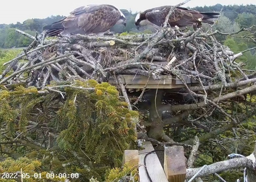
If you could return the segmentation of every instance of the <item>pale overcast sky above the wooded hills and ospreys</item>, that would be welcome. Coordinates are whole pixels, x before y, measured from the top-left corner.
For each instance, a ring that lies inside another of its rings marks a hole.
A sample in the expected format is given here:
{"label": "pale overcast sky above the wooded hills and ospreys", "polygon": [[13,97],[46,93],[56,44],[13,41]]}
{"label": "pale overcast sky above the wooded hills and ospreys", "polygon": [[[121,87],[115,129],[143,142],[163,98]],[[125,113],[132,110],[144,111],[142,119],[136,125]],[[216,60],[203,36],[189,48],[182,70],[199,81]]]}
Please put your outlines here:
{"label": "pale overcast sky above the wooded hills and ospreys", "polygon": [[[30,18],[46,18],[51,15],[69,15],[69,12],[80,6],[87,4],[112,4],[119,9],[131,9],[133,12],[141,9],[154,8],[163,5],[176,5],[183,0],[4,0],[1,3],[0,24],[16,24]],[[66,3],[64,3],[66,2]],[[127,3],[126,3],[127,2]],[[172,4],[170,4],[170,2]],[[191,0],[183,7],[212,6],[222,5],[240,5],[254,4],[255,0]]]}

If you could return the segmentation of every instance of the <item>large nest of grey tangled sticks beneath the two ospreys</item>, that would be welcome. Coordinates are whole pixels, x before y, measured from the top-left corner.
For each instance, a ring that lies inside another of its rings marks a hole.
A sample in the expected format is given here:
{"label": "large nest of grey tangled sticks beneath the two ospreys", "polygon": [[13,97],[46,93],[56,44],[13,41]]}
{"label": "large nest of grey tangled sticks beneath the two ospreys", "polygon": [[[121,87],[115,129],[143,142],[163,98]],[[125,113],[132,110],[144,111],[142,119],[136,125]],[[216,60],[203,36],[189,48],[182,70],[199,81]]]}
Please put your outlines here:
{"label": "large nest of grey tangled sticks beneath the two ospreys", "polygon": [[[246,30],[250,29],[239,32]],[[242,53],[234,55],[218,43],[215,34],[228,34],[212,31],[211,27],[208,32],[203,28],[181,32],[178,27],[163,27],[153,35],[78,34],[58,39],[45,39],[44,33],[33,37],[17,31],[34,41],[24,53],[5,63],[8,66],[0,75],[0,84],[24,82],[44,88],[51,80],[94,78],[101,82],[116,74],[137,74],[154,79],[174,75],[183,84],[182,75],[186,75],[202,85],[216,82],[226,85],[231,71],[238,71],[248,79],[241,65],[235,62]],[[238,32],[232,34],[235,33]],[[9,73],[11,69],[13,73]]]}

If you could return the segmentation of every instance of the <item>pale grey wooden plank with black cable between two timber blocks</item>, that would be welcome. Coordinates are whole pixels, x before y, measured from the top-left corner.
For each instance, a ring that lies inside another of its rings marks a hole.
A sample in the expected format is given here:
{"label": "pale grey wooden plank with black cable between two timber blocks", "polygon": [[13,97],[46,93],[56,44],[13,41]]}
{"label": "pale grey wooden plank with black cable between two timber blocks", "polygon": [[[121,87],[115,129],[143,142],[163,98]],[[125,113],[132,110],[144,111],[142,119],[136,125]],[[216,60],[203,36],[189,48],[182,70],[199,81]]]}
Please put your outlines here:
{"label": "pale grey wooden plank with black cable between two timber blocks", "polygon": [[[144,166],[144,157],[148,152],[153,151],[154,148],[150,141],[146,141],[143,144],[145,149],[139,151],[139,182],[149,182]],[[153,182],[168,182],[156,153],[149,154],[146,157],[146,167]]]}

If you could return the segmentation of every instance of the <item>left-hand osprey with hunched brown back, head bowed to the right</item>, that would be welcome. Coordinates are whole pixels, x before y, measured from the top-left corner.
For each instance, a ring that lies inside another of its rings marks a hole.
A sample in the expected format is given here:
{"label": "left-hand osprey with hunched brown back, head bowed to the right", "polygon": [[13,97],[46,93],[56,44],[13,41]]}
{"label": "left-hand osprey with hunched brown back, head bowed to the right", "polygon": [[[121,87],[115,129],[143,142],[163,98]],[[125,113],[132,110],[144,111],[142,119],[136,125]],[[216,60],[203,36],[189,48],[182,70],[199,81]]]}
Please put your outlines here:
{"label": "left-hand osprey with hunched brown back, head bowed to the right", "polygon": [[96,34],[103,35],[112,26],[123,24],[126,26],[124,14],[115,6],[108,4],[87,5],[76,8],[70,15],[46,25],[46,35],[70,36],[71,34]]}

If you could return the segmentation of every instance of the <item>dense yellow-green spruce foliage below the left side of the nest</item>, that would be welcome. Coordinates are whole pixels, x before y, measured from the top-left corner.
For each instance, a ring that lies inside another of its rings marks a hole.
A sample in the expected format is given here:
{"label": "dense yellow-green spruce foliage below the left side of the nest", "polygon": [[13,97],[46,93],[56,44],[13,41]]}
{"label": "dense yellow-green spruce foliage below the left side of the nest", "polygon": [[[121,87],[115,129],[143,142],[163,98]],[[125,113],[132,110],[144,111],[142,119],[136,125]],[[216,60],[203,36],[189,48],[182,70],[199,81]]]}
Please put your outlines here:
{"label": "dense yellow-green spruce foliage below the left side of the nest", "polygon": [[[5,147],[22,151],[24,160],[40,161],[35,167],[41,172],[79,173],[72,181],[104,181],[111,168],[120,167],[124,150],[136,149],[133,121],[138,117],[109,83],[51,82],[44,91],[22,84],[0,87],[0,126],[6,132],[2,140],[20,134],[16,140],[23,144]],[[48,140],[49,132],[53,140]],[[25,165],[24,170],[32,169]]]}

